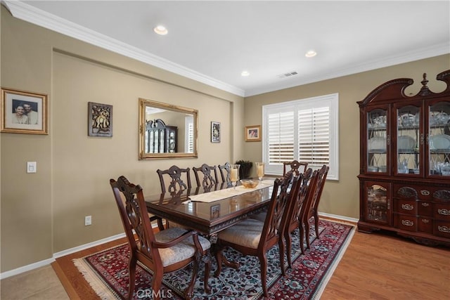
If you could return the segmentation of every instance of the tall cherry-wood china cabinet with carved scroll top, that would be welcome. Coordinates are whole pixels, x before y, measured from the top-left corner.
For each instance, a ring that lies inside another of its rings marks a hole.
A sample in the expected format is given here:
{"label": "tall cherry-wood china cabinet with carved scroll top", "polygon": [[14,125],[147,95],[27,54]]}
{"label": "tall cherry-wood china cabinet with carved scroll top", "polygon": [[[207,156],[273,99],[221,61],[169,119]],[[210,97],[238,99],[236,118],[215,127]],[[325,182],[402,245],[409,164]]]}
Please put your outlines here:
{"label": "tall cherry-wood china cabinet with carved scroll top", "polygon": [[450,246],[450,70],[444,91],[415,96],[413,79],[381,84],[358,102],[360,217],[358,229],[390,230],[416,242]]}

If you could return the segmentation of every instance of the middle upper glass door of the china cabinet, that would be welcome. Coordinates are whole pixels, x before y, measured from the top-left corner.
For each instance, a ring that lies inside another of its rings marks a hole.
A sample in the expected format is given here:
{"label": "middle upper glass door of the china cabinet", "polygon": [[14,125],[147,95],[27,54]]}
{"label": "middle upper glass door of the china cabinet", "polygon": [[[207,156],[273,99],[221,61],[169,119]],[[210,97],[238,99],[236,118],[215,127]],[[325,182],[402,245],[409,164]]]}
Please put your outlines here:
{"label": "middle upper glass door of the china cabinet", "polygon": [[423,130],[420,129],[422,111],[420,104],[396,107],[397,113],[397,167],[396,174],[423,174]]}

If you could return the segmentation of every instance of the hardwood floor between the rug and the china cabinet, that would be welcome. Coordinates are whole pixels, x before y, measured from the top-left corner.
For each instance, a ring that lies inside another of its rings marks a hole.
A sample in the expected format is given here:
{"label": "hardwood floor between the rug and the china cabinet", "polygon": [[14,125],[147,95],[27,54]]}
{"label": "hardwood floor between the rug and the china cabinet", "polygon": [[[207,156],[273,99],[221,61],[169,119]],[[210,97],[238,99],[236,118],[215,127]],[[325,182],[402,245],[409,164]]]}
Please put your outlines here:
{"label": "hardwood floor between the rug and the china cabinet", "polygon": [[321,299],[450,299],[450,249],[354,234]]}

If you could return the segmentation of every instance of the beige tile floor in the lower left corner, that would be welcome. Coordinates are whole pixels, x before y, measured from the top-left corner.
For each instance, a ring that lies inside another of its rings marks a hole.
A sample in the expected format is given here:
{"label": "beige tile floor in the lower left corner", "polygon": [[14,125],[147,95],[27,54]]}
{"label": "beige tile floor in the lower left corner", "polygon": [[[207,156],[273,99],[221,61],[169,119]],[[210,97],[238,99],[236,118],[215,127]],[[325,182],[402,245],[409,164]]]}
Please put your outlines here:
{"label": "beige tile floor in the lower left corner", "polygon": [[1,280],[0,299],[65,300],[69,296],[48,265]]}

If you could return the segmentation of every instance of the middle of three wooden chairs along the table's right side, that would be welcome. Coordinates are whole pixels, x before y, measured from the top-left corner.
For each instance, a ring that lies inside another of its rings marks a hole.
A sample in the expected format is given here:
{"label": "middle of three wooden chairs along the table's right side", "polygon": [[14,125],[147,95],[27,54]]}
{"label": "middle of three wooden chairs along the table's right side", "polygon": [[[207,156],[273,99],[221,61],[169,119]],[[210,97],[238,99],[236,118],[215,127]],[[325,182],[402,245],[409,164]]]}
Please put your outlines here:
{"label": "middle of three wooden chairs along the table's right side", "polygon": [[291,206],[288,209],[288,216],[286,218],[285,222],[285,229],[283,230],[284,240],[286,243],[286,254],[288,257],[288,265],[289,267],[292,267],[292,238],[291,233],[295,229],[299,229],[300,233],[300,250],[302,251],[302,254],[304,254],[304,244],[303,244],[303,226],[302,226],[302,206],[305,202],[307,202],[307,199],[309,195],[312,193],[308,193],[311,189],[309,188],[311,183],[314,185],[316,182],[316,175],[318,171],[312,171],[311,168],[307,169],[303,174],[300,174],[299,181],[300,181],[300,187],[297,189],[297,195],[294,197],[294,201],[291,202]]}

